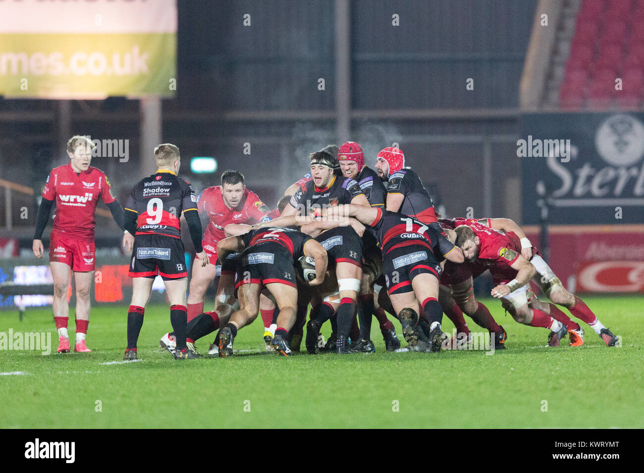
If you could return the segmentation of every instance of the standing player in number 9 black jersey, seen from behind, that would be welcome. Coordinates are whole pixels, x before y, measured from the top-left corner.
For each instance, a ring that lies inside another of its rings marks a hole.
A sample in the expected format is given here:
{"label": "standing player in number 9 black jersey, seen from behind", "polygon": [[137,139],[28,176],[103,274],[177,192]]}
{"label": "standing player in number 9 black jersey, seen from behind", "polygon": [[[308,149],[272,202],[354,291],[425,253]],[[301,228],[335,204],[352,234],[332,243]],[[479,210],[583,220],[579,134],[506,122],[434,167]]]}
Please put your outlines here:
{"label": "standing player in number 9 black jersey, seen from behind", "polygon": [[[193,187],[177,177],[181,165],[178,147],[173,144],[158,145],[155,148],[155,160],[157,171],[135,185],[125,209],[125,227],[129,233],[124,236],[124,245],[133,244],[128,273],[133,278],[133,293],[128,310],[128,348],[123,359],[137,359],[138,334],[157,275],[164,280],[171,304],[170,322],[176,339],[175,359],[197,358],[198,355],[189,351],[186,345],[187,272],[179,220],[183,214],[196,258],[201,266],[207,266],[208,256],[202,248],[197,199],[194,197]],[[194,266],[197,266],[197,260]]]}

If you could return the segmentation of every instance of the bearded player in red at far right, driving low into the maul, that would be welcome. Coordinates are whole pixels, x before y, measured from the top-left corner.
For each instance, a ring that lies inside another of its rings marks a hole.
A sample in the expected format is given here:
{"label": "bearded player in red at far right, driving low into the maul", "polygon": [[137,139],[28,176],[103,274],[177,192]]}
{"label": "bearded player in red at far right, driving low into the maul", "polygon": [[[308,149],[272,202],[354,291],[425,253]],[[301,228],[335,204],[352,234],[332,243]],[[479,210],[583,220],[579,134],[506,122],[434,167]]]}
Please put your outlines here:
{"label": "bearded player in red at far right, driving low into the maul", "polygon": [[[479,223],[459,225],[455,231],[457,245],[466,258],[489,266],[497,284],[492,295],[502,299],[504,308],[513,318],[522,324],[551,330],[546,346],[559,346],[567,333],[571,334],[571,345],[580,346],[583,344],[583,329],[572,320],[566,320],[569,317],[565,314],[563,322],[557,320],[553,317],[555,306],[533,298],[529,287],[531,279],[554,304],[567,307],[575,317],[589,324],[607,346],[617,344],[618,337],[601,324],[581,299],[565,290],[535,247],[531,248],[529,261],[521,254],[520,239],[514,232],[500,232]],[[528,298],[532,299],[531,304]],[[561,319],[561,315],[558,314],[558,318]]]}

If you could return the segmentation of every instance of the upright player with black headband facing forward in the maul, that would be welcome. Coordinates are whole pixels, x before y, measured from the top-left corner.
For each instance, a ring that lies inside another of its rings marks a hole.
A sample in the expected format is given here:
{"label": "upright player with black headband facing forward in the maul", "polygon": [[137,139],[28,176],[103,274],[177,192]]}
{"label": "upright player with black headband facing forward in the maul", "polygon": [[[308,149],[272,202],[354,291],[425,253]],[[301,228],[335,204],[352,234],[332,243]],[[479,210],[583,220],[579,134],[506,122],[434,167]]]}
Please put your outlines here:
{"label": "upright player with black headband facing forward in the maul", "polygon": [[[341,176],[336,146],[329,145],[316,153],[311,153],[310,158],[312,180],[296,191],[290,200],[290,205],[284,209],[283,216],[315,216],[327,207],[345,203],[354,203],[370,208],[365,192],[360,189],[358,183],[351,178]],[[353,230],[343,227],[343,229],[336,231],[349,233]],[[362,277],[362,260],[355,260],[351,252],[357,254],[358,251],[361,252],[362,248],[341,245],[341,248],[337,249],[345,252],[345,255],[341,257],[344,260],[341,262],[343,264],[336,266],[339,290],[344,294],[337,311],[338,326],[342,324],[344,329],[346,324],[350,328],[355,317],[357,292],[359,292]],[[357,264],[350,263],[350,261],[356,261]],[[332,313],[323,313],[321,318],[331,317],[331,315]],[[348,340],[343,339],[341,345],[338,346],[336,338],[336,350],[339,353],[345,353],[348,349],[346,344],[348,344]]]}

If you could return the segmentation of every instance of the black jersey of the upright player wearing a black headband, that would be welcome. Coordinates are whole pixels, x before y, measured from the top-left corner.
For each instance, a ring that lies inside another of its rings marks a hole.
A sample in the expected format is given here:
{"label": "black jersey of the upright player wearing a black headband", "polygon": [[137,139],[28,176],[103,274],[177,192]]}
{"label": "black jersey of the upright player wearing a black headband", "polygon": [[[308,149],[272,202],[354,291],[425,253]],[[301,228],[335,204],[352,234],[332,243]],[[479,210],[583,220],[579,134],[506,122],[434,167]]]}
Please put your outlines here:
{"label": "black jersey of the upright player wearing a black headband", "polygon": [[324,189],[317,189],[314,181],[308,181],[293,194],[289,203],[302,216],[310,216],[312,209],[322,210],[333,205],[351,203],[352,199],[361,194],[365,195],[365,192],[352,178],[333,176],[331,183]]}

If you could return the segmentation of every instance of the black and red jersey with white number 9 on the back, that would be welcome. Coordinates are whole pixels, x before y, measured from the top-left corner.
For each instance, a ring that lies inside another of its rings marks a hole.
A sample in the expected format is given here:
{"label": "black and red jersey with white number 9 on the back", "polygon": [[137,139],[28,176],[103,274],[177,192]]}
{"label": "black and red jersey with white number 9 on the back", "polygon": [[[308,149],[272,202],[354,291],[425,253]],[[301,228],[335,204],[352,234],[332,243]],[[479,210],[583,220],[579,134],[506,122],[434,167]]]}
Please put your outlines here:
{"label": "black and red jersey with white number 9 on the back", "polygon": [[137,213],[136,235],[181,237],[182,212],[197,211],[194,189],[174,172],[161,170],[138,181],[125,210]]}

